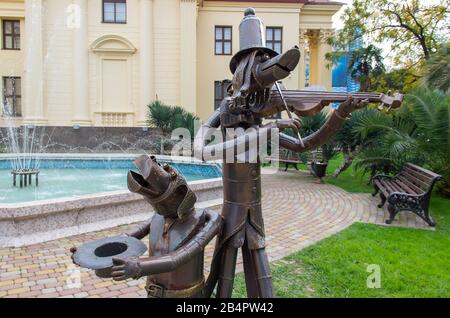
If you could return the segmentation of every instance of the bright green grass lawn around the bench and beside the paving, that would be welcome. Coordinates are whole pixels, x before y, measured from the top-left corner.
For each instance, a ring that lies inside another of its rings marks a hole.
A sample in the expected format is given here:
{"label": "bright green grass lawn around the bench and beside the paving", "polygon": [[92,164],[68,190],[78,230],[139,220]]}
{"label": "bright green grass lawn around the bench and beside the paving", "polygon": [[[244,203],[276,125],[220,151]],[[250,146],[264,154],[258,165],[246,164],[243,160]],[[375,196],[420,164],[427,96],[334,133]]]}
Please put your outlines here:
{"label": "bright green grass lawn around the bench and beside the paving", "polygon": [[[330,162],[333,171],[341,158]],[[347,170],[326,182],[370,192],[367,176]],[[450,200],[434,195],[436,230],[357,223],[272,264],[278,297],[450,297]],[[381,288],[368,288],[368,265],[379,265]],[[246,297],[243,275],[235,297]]]}

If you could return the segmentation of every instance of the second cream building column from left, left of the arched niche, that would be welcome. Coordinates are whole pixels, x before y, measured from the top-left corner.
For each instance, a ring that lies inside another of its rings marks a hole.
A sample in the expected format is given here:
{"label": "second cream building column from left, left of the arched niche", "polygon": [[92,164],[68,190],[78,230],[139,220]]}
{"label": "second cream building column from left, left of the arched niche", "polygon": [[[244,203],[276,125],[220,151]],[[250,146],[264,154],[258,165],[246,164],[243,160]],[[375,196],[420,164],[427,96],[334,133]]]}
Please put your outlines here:
{"label": "second cream building column from left, left of the arched niche", "polygon": [[91,125],[89,111],[88,0],[73,0],[80,13],[73,30],[73,118],[79,126]]}

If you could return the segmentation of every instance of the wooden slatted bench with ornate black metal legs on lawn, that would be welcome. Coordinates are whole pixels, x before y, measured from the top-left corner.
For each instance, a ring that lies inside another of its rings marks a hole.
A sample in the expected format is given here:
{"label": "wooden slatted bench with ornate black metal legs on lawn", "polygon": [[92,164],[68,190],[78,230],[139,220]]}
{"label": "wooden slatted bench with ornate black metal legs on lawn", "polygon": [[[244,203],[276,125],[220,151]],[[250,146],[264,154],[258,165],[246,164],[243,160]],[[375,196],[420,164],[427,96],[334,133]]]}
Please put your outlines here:
{"label": "wooden slatted bench with ornate black metal legs on lawn", "polygon": [[372,195],[376,196],[380,192],[379,208],[383,207],[386,201],[388,202],[387,224],[392,223],[398,212],[410,211],[428,225],[435,226],[436,223],[429,215],[428,206],[433,186],[440,179],[442,177],[432,171],[407,163],[396,176],[375,175],[371,179],[375,188]]}

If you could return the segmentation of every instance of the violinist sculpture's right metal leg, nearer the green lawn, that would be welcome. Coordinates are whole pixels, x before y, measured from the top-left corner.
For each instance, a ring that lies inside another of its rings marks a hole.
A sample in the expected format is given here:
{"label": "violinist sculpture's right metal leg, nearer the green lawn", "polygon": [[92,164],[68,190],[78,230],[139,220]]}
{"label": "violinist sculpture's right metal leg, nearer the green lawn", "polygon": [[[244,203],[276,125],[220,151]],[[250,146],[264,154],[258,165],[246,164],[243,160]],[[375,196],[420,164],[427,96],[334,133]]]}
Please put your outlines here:
{"label": "violinist sculpture's right metal leg, nearer the green lawn", "polygon": [[252,250],[251,253],[255,266],[256,280],[258,282],[259,296],[261,298],[275,298],[266,249]]}

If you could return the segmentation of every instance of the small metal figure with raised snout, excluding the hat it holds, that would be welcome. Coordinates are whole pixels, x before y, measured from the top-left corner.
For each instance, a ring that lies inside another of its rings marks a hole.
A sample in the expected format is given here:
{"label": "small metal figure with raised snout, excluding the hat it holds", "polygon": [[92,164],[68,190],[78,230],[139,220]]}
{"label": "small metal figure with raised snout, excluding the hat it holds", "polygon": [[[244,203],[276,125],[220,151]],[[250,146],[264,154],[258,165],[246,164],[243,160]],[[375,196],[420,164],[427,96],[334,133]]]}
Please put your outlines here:
{"label": "small metal figure with raised snout, excluding the hat it holds", "polygon": [[149,235],[149,256],[113,258],[109,276],[117,281],[148,276],[148,297],[210,297],[205,289],[204,248],[220,232],[221,217],[209,209],[195,210],[195,194],[169,165],[162,167],[149,156],[139,157],[135,164],[140,173],[128,173],[128,187],[143,195],[156,213],[125,235],[139,240]]}

